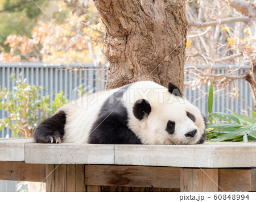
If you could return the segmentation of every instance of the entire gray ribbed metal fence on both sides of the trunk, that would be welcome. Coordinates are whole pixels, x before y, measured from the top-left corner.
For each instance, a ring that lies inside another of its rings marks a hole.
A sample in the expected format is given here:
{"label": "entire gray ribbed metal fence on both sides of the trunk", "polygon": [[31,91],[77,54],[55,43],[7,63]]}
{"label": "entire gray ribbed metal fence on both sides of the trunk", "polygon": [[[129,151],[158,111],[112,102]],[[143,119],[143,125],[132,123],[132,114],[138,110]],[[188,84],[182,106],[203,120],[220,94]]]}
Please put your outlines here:
{"label": "entire gray ribbed metal fence on both sides of the trunk", "polygon": [[[214,66],[214,71],[219,74],[225,73],[230,67],[229,65]],[[237,74],[242,74],[247,68],[242,66]],[[55,93],[62,90],[64,94],[68,95],[71,100],[71,91],[81,83],[96,87],[98,90],[104,90],[106,75],[104,71],[98,70],[93,64],[43,64],[43,63],[0,63],[0,85],[13,89],[14,81],[10,81],[11,73],[18,78],[22,73],[22,79],[27,78],[27,82],[31,85],[43,86],[40,92],[41,96],[50,95],[50,99],[54,99]],[[186,79],[186,77],[185,77]],[[236,86],[239,96],[234,96],[233,87]],[[209,87],[202,85],[199,89],[192,90],[187,86],[185,96],[187,99],[195,104],[200,110],[207,113],[207,98]],[[214,89],[217,90],[217,89]],[[200,99],[199,99],[200,98]],[[229,108],[233,111],[241,113],[242,109],[247,107],[253,108],[253,100],[249,86],[245,80],[234,81],[228,89],[224,89],[214,94],[213,112],[224,111]],[[0,119],[5,117],[6,113],[0,111]],[[0,132],[0,137],[12,136],[9,129],[3,129]]]}

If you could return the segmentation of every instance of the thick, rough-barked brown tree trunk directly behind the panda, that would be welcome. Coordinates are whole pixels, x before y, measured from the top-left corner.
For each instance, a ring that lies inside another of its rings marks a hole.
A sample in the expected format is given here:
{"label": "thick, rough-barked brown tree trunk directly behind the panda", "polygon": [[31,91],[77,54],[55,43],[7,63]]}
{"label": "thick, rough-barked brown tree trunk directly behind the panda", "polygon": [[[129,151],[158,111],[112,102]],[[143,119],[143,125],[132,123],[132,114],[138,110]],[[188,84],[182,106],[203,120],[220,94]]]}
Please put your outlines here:
{"label": "thick, rough-barked brown tree trunk directly behind the panda", "polygon": [[94,0],[106,27],[106,90],[136,81],[174,83],[183,92],[187,19],[184,0]]}

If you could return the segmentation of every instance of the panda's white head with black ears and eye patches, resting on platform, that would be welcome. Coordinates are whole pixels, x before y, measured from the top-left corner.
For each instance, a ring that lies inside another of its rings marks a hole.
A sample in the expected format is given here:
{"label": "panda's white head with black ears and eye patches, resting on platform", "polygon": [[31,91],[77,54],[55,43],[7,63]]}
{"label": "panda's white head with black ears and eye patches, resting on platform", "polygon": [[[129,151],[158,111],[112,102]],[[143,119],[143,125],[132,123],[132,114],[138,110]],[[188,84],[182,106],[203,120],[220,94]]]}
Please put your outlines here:
{"label": "panda's white head with black ears and eye patches, resting on platform", "polygon": [[[154,86],[155,87],[155,86]],[[205,142],[205,119],[200,110],[181,96],[172,83],[168,89],[152,87],[146,96],[134,96],[129,123],[143,144],[193,145]]]}

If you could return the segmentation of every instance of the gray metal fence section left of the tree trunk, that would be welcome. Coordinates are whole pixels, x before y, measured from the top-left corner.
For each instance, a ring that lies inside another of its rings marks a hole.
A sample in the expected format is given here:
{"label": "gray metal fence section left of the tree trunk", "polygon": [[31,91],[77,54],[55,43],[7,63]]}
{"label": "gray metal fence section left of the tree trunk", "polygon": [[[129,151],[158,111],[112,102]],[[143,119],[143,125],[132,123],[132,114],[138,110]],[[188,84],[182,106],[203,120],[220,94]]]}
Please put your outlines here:
{"label": "gray metal fence section left of the tree trunk", "polygon": [[[101,68],[104,70],[103,68]],[[96,87],[96,91],[104,90],[106,75],[93,64],[44,64],[44,63],[0,63],[0,86],[12,90],[14,81],[10,75],[15,74],[18,79],[21,73],[22,80],[27,79],[31,85],[42,86],[40,96],[49,94],[49,99],[55,98],[55,94],[63,91],[71,100],[71,91],[75,87],[90,85]],[[7,116],[0,111],[0,119]],[[13,136],[10,129],[0,131],[0,137]]]}

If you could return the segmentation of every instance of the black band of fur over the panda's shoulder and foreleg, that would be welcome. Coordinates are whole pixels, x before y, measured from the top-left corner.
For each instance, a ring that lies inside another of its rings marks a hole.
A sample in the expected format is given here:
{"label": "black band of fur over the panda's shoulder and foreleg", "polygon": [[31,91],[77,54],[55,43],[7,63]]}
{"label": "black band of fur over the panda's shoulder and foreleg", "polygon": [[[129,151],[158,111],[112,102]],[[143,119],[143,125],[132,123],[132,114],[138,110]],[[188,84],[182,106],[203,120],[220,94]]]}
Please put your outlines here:
{"label": "black band of fur over the panda's shoulder and foreleg", "polygon": [[103,104],[92,126],[89,144],[142,144],[127,127],[127,110],[118,100],[130,85],[123,86]]}

